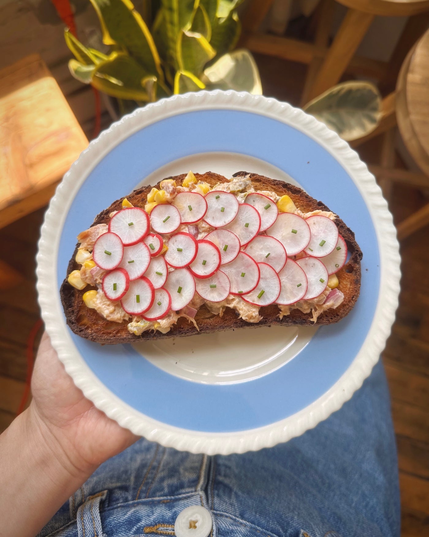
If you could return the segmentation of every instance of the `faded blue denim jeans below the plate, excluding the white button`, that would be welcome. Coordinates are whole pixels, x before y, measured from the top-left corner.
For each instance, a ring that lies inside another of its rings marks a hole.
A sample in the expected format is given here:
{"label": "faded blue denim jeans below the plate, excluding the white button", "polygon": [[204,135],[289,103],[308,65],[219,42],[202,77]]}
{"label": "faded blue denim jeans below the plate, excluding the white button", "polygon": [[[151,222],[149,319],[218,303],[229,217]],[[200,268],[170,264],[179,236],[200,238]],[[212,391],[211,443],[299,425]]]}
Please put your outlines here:
{"label": "faded blue denim jeans below the plate, excluding the white button", "polygon": [[399,536],[381,363],[341,410],[271,449],[209,457],[137,441],[101,465],[39,535],[174,535],[189,505],[210,510],[212,537]]}

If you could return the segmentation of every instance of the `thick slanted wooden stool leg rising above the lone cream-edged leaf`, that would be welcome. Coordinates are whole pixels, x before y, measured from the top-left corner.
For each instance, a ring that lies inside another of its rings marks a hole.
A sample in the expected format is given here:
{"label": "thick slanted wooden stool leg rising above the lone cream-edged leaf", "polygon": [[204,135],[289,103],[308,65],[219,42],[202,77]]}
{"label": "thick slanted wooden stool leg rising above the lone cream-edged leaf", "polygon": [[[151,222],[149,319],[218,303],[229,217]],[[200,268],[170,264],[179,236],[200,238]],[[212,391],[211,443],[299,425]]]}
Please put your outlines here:
{"label": "thick slanted wooden stool leg rising above the lone cream-edged leaf", "polygon": [[308,92],[308,100],[314,99],[337,84],[345,68],[364,38],[374,15],[349,9],[322,66]]}

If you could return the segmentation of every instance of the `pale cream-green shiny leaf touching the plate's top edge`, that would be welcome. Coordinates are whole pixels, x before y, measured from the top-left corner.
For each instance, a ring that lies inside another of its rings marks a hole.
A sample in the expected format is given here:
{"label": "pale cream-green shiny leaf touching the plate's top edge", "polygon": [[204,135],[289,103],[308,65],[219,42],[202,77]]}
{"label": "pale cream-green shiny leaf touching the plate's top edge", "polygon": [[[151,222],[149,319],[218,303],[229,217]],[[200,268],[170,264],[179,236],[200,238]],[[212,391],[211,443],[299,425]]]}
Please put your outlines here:
{"label": "pale cream-green shiny leaf touching the plate's top edge", "polygon": [[262,95],[259,71],[248,50],[234,50],[221,56],[204,70],[203,82],[210,89],[248,91],[253,95]]}

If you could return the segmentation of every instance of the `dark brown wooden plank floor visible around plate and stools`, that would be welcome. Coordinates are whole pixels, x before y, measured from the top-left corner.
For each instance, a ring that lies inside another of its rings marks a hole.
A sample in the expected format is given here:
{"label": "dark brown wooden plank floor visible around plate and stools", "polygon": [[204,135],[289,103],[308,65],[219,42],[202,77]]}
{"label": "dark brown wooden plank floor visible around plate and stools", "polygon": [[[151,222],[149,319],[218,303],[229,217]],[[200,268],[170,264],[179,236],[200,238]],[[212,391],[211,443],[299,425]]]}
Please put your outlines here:
{"label": "dark brown wooden plank floor visible around plate and stools", "polygon": [[[298,104],[305,68],[257,57],[264,93]],[[378,162],[375,141],[360,150]],[[395,222],[422,206],[421,193],[395,187]],[[43,210],[0,230],[0,259],[20,271],[23,284],[0,292],[0,430],[12,421],[26,378],[26,342],[39,318],[35,254]],[[401,244],[402,292],[396,323],[383,352],[399,454],[403,537],[429,535],[429,227]],[[368,536],[369,537],[369,536]]]}

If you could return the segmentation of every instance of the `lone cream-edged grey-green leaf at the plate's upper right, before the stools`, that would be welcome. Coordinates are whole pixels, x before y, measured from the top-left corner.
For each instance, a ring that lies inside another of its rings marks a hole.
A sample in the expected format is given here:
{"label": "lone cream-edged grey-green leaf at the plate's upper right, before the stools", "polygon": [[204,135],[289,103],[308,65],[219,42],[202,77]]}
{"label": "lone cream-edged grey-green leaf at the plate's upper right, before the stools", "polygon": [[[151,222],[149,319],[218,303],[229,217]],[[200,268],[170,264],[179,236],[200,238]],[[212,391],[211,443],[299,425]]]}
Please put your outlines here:
{"label": "lone cream-edged grey-green leaf at the plate's upper right, before the stools", "polygon": [[350,142],[371,133],[379,124],[381,96],[374,84],[351,81],[337,84],[304,107]]}

